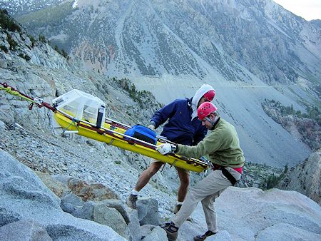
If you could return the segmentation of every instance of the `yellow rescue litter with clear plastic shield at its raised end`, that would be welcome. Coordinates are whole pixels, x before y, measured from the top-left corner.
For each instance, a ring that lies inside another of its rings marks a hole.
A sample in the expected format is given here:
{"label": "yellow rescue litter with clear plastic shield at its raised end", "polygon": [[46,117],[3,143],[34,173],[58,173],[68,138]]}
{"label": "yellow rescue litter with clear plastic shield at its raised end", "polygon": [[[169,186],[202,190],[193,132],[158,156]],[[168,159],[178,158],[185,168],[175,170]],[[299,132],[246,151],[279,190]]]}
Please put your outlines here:
{"label": "yellow rescue litter with clear plastic shield at its raised end", "polygon": [[161,137],[158,137],[157,145],[153,145],[125,135],[130,126],[105,118],[105,103],[88,93],[78,90],[69,91],[55,98],[53,103],[56,108],[54,112],[56,123],[66,132],[83,135],[197,173],[206,170],[209,166],[202,160],[185,158],[174,153],[161,155],[156,151],[157,145],[169,142]]}

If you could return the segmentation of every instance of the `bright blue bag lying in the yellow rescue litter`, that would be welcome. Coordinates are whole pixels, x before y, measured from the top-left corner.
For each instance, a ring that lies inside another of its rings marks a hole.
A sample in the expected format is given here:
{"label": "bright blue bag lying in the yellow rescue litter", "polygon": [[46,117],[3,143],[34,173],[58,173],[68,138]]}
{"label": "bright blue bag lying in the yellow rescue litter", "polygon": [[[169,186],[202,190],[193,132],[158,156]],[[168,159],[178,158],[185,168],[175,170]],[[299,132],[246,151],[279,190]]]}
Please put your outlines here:
{"label": "bright blue bag lying in the yellow rescue litter", "polygon": [[133,127],[126,130],[125,135],[132,136],[133,138],[146,141],[153,145],[157,144],[156,132],[143,125],[133,125]]}

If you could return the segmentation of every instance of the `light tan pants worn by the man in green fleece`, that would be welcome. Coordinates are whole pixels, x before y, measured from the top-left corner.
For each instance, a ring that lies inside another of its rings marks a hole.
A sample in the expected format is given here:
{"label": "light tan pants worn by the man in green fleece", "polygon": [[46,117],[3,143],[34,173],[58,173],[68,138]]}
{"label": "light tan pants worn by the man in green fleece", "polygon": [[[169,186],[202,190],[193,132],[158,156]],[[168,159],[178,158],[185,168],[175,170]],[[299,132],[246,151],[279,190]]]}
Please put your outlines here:
{"label": "light tan pants worn by the man in green fleece", "polygon": [[[236,180],[240,180],[240,173],[233,168],[226,169]],[[171,219],[171,221],[174,222],[176,227],[180,227],[180,225],[182,225],[195,210],[198,202],[201,201],[208,230],[218,232],[216,211],[213,203],[215,198],[218,198],[218,196],[230,185],[232,184],[228,178],[225,178],[221,170],[213,171],[210,175],[197,183],[195,187],[190,189],[182,207],[180,207],[179,212]]]}

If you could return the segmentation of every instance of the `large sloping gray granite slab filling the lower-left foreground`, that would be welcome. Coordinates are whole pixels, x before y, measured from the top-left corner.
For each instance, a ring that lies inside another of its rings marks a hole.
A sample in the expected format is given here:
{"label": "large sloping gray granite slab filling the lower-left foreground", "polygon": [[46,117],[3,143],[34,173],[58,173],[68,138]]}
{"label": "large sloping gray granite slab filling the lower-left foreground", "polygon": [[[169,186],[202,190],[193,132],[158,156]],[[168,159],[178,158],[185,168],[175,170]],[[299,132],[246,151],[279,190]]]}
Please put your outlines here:
{"label": "large sloping gray granite slab filling the lower-left foreground", "polygon": [[111,227],[78,219],[63,212],[60,200],[37,175],[0,150],[0,210],[3,224],[34,220],[53,240],[124,240]]}

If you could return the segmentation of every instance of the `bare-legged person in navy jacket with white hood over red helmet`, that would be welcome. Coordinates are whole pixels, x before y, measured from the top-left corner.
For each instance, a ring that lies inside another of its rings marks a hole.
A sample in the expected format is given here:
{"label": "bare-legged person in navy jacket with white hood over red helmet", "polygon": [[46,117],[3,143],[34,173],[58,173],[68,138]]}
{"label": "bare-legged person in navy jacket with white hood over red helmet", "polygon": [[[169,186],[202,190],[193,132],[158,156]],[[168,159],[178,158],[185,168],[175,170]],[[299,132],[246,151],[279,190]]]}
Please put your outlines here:
{"label": "bare-legged person in navy jacket with white hood over red helmet", "polygon": [[[173,143],[183,145],[197,145],[200,140],[203,140],[207,133],[207,129],[198,120],[198,106],[206,101],[213,101],[215,91],[212,86],[203,84],[196,91],[193,98],[177,99],[167,106],[156,111],[150,121],[148,128],[155,130],[158,126],[168,120],[163,127],[161,135]],[[151,177],[155,175],[161,166],[164,165],[160,160],[153,160],[151,165],[141,173],[135,188],[128,195],[126,203],[128,207],[136,209],[136,201],[139,192],[143,189]],[[190,175],[188,170],[176,168],[178,177],[180,179],[180,186],[178,188],[177,202],[174,207],[174,213],[180,210],[185,196],[188,192],[188,185],[190,183]]]}

